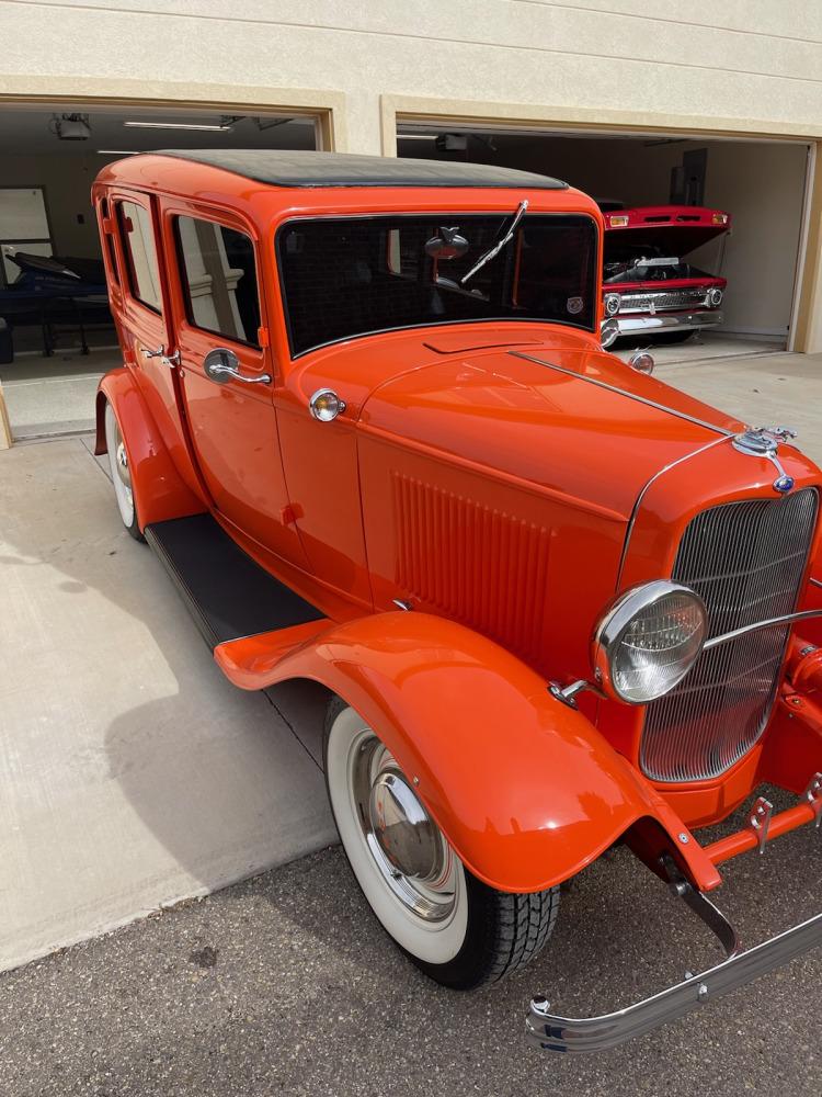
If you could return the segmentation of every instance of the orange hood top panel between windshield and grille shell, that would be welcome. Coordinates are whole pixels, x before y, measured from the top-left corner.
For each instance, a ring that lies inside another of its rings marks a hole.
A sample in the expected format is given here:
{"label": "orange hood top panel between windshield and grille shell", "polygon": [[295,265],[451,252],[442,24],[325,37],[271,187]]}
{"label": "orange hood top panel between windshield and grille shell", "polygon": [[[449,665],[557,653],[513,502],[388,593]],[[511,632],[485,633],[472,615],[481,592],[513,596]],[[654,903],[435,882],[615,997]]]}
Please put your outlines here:
{"label": "orange hood top panel between windshield and grille shell", "polygon": [[377,385],[361,421],[626,520],[662,468],[743,429],[610,354],[556,343],[450,352]]}

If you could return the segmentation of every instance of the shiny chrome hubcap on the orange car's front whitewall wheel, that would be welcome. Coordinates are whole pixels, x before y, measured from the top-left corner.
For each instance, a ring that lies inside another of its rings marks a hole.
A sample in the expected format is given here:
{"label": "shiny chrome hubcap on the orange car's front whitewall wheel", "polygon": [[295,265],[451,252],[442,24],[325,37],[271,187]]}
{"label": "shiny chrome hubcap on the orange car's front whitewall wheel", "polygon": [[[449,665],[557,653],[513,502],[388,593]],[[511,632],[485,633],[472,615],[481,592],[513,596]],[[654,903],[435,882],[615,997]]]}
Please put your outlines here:
{"label": "shiny chrome hubcap on the orange car's front whitewall wheel", "polygon": [[456,903],[450,846],[373,732],[355,738],[349,758],[353,806],[380,875],[409,913],[445,920]]}

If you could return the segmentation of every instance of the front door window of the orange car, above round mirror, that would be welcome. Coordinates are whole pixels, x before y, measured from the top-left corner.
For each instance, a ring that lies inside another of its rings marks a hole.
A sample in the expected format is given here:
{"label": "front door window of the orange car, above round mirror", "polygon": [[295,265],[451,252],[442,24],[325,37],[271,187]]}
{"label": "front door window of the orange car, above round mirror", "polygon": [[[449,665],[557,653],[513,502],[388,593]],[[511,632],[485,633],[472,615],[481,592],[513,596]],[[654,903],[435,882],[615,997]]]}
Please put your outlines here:
{"label": "front door window of the orange car, above round mirror", "polygon": [[258,347],[260,298],[250,237],[195,217],[178,217],[175,231],[189,323]]}

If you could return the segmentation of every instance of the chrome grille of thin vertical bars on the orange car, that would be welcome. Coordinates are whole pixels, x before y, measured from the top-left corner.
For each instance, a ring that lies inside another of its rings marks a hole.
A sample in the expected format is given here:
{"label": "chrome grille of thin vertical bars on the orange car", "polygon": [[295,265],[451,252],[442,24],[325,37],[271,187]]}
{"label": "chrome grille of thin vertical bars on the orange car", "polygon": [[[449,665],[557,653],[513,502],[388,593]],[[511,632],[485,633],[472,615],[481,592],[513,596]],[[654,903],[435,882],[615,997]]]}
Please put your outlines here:
{"label": "chrome grille of thin vertical bars on the orange car", "polygon": [[[672,577],[701,595],[709,635],[796,609],[817,510],[817,489],[806,488],[697,514]],[[697,781],[739,761],[765,730],[789,632],[770,626],[703,652],[683,682],[646,710],[643,772]]]}

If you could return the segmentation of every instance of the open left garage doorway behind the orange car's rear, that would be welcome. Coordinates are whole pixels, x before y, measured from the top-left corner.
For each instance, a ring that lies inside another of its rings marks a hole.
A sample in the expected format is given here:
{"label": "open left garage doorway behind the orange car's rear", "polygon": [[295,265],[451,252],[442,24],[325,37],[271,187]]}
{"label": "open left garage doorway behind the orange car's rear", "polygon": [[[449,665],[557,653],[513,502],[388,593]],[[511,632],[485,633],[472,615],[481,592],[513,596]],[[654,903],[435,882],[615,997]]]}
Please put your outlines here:
{"label": "open left garage doorway behind the orange car's rear", "polygon": [[0,381],[15,440],[93,425],[99,378],[119,364],[91,184],[158,148],[321,145],[319,118],[72,103],[0,110]]}

